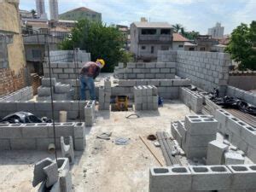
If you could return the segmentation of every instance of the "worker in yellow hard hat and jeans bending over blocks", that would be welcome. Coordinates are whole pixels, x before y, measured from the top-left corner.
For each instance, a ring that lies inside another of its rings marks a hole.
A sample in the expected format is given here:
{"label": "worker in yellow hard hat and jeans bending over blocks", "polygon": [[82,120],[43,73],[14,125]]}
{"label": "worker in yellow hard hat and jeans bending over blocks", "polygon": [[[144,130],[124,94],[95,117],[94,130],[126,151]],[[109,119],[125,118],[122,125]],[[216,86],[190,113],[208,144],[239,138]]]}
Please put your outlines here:
{"label": "worker in yellow hard hat and jeans bending over blocks", "polygon": [[99,75],[102,67],[105,66],[105,61],[102,59],[97,59],[96,62],[89,61],[84,64],[80,71],[80,98],[85,100],[85,89],[88,87],[90,92],[90,99],[95,100],[95,84],[94,79]]}

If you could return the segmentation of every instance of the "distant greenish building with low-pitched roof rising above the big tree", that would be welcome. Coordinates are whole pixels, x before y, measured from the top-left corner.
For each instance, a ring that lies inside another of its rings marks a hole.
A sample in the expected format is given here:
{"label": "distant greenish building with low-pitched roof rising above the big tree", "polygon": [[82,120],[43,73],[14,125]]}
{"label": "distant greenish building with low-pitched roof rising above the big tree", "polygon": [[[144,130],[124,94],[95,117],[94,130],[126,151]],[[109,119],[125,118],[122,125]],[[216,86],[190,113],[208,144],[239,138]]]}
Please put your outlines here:
{"label": "distant greenish building with low-pitched roof rising above the big tree", "polygon": [[60,20],[92,20],[102,21],[102,14],[88,8],[77,8],[59,15]]}

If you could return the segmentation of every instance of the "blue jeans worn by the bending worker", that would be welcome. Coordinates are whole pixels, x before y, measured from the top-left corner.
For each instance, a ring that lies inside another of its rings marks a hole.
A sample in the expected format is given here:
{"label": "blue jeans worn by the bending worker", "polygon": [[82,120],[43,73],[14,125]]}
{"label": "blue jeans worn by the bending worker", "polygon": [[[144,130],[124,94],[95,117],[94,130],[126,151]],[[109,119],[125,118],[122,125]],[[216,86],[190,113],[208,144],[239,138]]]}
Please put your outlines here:
{"label": "blue jeans worn by the bending worker", "polygon": [[94,80],[91,77],[87,77],[84,75],[80,76],[80,97],[81,100],[85,100],[86,96],[85,96],[85,90],[86,87],[88,87],[89,92],[90,92],[90,99],[91,100],[95,100],[96,96],[95,96],[95,84],[94,84]]}

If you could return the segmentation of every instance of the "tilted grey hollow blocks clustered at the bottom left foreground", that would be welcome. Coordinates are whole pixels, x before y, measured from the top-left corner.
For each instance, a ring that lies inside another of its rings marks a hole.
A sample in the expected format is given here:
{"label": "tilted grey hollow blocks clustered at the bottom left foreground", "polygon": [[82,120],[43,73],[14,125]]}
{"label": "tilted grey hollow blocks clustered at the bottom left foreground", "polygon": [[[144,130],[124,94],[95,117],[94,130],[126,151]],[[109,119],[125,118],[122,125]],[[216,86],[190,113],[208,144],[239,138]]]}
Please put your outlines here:
{"label": "tilted grey hollow blocks clustered at the bottom left foreground", "polygon": [[40,160],[34,167],[33,187],[41,183],[38,192],[72,191],[72,174],[67,158]]}

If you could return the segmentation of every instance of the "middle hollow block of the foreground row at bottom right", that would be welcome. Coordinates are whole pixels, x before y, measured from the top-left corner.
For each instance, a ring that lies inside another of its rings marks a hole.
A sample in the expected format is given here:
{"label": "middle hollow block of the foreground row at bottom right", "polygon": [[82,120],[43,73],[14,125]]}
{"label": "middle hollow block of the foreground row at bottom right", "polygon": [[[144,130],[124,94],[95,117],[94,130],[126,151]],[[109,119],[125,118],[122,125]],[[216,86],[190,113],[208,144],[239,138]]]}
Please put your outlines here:
{"label": "middle hollow block of the foreground row at bottom right", "polygon": [[192,190],[230,189],[231,172],[226,166],[189,166]]}

